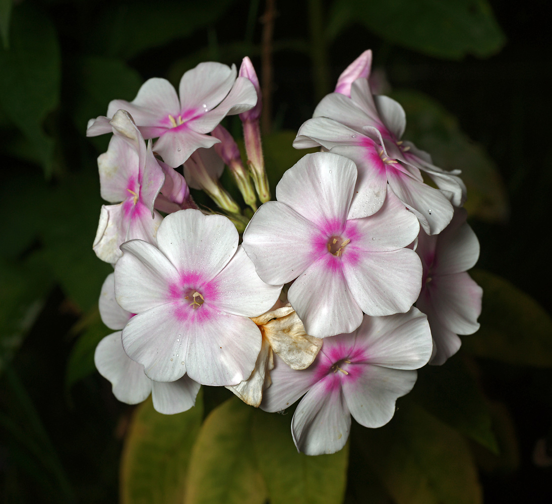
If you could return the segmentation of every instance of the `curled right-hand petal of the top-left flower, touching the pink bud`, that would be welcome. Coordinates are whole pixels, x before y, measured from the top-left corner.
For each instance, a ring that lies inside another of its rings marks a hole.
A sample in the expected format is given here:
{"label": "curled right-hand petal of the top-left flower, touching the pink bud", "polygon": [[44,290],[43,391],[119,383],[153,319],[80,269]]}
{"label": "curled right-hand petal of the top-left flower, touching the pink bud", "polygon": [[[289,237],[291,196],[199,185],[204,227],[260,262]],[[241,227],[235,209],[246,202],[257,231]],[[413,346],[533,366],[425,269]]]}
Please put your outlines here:
{"label": "curled right-hand petal of the top-left flower, touching the pink bud", "polygon": [[241,114],[252,109],[257,103],[257,92],[251,81],[238,77],[228,96],[213,110],[189,121],[190,129],[198,133],[209,133],[227,115]]}

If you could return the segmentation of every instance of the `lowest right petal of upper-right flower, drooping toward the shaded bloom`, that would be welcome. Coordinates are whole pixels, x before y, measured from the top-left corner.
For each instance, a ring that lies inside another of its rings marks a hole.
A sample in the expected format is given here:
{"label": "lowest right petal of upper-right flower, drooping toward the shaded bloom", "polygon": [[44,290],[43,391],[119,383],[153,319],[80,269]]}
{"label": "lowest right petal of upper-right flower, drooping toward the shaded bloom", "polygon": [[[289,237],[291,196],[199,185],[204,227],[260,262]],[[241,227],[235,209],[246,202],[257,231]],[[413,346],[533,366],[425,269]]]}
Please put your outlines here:
{"label": "lowest right petal of upper-right flower, drooping toward the shaded bloom", "polygon": [[387,179],[391,190],[418,217],[428,235],[437,235],[447,227],[454,209],[442,192],[394,169],[388,169]]}

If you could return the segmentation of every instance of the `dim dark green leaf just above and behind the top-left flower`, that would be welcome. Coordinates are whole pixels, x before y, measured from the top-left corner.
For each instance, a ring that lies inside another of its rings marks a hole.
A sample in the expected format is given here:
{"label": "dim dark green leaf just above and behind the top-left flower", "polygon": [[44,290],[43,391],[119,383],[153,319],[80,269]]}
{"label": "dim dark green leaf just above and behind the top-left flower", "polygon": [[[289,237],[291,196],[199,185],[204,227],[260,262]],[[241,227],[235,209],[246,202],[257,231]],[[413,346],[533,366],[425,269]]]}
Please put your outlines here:
{"label": "dim dark green leaf just above and behind the top-left flower", "polygon": [[111,100],[133,100],[143,82],[134,68],[114,58],[83,57],[76,67],[79,92],[75,123],[82,134],[89,119],[107,114]]}

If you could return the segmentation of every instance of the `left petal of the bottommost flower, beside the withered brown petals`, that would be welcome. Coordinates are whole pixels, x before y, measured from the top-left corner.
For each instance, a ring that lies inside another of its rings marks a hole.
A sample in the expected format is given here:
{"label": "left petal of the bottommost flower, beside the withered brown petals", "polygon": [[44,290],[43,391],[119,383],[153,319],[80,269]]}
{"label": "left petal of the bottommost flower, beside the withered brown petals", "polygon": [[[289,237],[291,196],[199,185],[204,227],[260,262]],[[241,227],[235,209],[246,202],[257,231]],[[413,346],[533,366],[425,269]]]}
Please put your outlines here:
{"label": "left petal of the bottommost flower, beside the withered brown petals", "polygon": [[274,369],[270,372],[272,385],[263,393],[261,410],[271,413],[285,410],[304,395],[317,381],[315,363],[307,369],[297,371],[291,369],[278,355],[274,355]]}

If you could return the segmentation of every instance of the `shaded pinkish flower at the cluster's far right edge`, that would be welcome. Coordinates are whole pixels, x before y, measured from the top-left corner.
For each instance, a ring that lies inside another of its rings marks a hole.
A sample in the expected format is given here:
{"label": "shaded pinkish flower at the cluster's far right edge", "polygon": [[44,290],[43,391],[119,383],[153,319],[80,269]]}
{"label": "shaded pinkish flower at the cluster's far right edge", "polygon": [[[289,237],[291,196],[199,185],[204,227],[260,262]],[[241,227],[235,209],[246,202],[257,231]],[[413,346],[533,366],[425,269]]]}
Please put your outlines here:
{"label": "shaded pinkish flower at the cluster's far right edge", "polygon": [[423,265],[422,290],[416,306],[427,315],[433,336],[431,364],[443,364],[458,352],[460,338],[479,329],[483,291],[466,271],[479,258],[479,241],[456,209],[453,220],[438,236],[418,236],[416,252]]}

